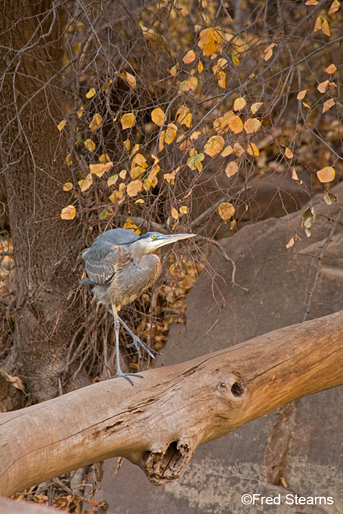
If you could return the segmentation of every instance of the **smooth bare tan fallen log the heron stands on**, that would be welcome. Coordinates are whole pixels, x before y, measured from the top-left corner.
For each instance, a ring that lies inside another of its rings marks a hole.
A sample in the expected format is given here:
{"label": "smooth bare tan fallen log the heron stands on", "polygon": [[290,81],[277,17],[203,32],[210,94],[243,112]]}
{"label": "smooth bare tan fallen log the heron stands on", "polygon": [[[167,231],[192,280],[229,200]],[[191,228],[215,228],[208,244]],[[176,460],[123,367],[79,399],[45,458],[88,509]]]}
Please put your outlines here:
{"label": "smooth bare tan fallen log the heron stands on", "polygon": [[113,456],[176,480],[198,445],[343,383],[343,311],[143,376],[1,414],[0,494]]}

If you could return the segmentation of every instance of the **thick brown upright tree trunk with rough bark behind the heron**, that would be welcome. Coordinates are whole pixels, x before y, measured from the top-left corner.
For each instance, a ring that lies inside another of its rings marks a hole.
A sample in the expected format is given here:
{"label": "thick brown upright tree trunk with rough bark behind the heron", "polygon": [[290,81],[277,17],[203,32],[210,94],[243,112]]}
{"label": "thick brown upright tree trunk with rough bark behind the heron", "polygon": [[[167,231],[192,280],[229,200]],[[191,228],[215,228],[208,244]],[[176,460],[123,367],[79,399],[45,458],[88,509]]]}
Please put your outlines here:
{"label": "thick brown upright tree trunk with rough bark behind the heron", "polygon": [[15,341],[5,368],[25,377],[31,401],[58,393],[73,321],[68,294],[76,282],[71,249],[77,228],[60,218],[73,201],[62,191],[70,171],[57,130],[63,117],[56,73],[61,25],[48,0],[0,3],[6,47],[0,64],[1,157],[16,273]]}

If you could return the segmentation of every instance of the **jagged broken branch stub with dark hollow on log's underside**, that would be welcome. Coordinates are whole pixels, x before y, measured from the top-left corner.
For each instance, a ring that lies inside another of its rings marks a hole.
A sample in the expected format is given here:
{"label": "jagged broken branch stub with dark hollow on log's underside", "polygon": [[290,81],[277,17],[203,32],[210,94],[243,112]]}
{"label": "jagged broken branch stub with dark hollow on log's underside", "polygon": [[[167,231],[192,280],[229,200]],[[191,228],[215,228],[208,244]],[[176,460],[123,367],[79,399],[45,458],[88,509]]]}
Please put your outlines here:
{"label": "jagged broken branch stub with dark hollow on log's underside", "polygon": [[165,485],[180,477],[192,455],[187,443],[173,441],[164,452],[147,452],[141,467],[152,484]]}

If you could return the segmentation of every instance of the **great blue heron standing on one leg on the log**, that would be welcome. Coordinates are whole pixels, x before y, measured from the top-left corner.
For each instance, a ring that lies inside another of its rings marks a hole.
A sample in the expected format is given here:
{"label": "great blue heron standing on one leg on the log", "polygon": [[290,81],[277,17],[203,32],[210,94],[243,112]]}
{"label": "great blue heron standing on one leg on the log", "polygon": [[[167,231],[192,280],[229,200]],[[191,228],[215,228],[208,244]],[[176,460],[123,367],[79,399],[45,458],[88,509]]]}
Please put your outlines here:
{"label": "great blue heron standing on one leg on the log", "polygon": [[117,310],[122,305],[133,302],[145,289],[157,280],[161,273],[161,259],[154,254],[163,245],[174,241],[193,237],[196,234],[160,234],[160,232],[147,232],[138,236],[131,230],[114,228],[107,230],[95,239],[90,248],[84,249],[80,260],[86,262],[87,276],[82,278],[81,284],[93,286],[93,295],[98,304],[105,304],[115,317],[115,347],[117,356],[117,376],[125,377],[132,385],[134,383],[129,375],[143,378],[134,373],[123,373],[119,363],[119,322],[132,336],[132,343],[141,357],[140,347],[152,358],[154,354],[143,341],[141,341],[128,328],[119,317]]}

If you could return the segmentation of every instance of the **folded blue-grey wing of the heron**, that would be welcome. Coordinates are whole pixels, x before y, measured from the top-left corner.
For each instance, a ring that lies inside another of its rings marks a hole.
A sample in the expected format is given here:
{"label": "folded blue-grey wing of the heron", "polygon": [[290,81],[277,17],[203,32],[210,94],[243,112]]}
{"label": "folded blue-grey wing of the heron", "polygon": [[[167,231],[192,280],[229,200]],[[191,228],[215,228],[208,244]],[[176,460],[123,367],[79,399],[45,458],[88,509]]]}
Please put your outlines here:
{"label": "folded blue-grey wing of the heron", "polygon": [[131,261],[128,249],[123,245],[96,244],[89,249],[86,258],[86,273],[95,284],[106,285],[113,280],[115,273]]}

